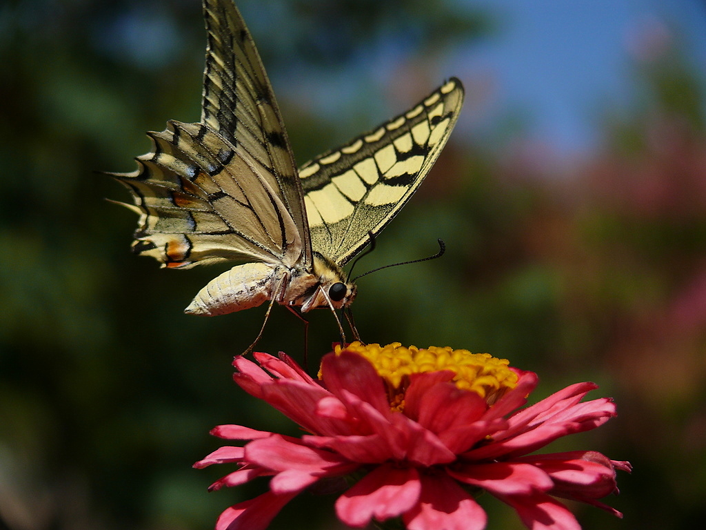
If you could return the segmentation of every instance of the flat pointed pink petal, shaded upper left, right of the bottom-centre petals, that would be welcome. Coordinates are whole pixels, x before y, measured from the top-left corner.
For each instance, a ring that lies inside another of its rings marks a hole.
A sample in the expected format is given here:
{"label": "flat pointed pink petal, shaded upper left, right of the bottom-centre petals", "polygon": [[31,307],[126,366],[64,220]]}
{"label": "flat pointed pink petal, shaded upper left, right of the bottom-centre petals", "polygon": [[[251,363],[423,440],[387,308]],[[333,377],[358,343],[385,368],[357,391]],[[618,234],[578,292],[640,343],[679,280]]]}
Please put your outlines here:
{"label": "flat pointed pink petal, shaded upper left, right of the bottom-centre petals", "polygon": [[457,481],[478,486],[493,495],[530,495],[554,487],[547,473],[530,464],[468,464],[454,466],[448,473]]}

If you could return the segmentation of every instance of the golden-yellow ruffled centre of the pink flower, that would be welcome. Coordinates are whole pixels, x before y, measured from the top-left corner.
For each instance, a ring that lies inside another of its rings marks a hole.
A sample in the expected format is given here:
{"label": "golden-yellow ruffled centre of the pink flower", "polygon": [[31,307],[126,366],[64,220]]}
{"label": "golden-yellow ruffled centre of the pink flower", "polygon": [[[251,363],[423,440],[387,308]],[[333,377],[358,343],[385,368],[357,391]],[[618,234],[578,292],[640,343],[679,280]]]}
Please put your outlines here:
{"label": "golden-yellow ruffled centre of the pink flower", "polygon": [[452,382],[458,388],[475,392],[489,405],[517,384],[517,374],[508,367],[510,362],[489,353],[471,353],[448,346],[407,348],[398,342],[387,346],[363,345],[358,341],[346,348],[335,347],[336,355],[342,351],[358,353],[370,361],[388,386],[390,406],[398,411],[404,408],[405,391],[412,374],[440,370],[453,372]]}

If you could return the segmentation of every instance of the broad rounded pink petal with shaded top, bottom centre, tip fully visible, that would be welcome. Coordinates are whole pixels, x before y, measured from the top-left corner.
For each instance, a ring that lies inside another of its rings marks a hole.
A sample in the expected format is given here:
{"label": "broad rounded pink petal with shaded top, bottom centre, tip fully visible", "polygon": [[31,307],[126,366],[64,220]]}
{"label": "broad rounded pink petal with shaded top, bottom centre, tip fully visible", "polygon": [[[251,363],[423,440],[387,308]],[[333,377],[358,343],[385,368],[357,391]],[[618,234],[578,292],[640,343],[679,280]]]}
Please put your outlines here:
{"label": "broad rounded pink petal with shaded top, bottom centre, tip fully visible", "polygon": [[421,483],[414,468],[390,464],[373,469],[336,501],[336,514],[348,526],[362,527],[373,517],[385,521],[410,510]]}

